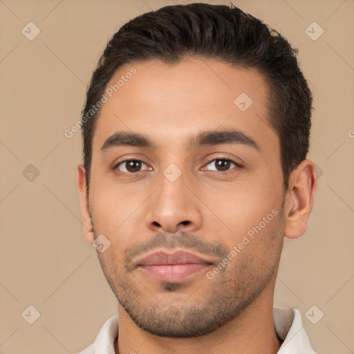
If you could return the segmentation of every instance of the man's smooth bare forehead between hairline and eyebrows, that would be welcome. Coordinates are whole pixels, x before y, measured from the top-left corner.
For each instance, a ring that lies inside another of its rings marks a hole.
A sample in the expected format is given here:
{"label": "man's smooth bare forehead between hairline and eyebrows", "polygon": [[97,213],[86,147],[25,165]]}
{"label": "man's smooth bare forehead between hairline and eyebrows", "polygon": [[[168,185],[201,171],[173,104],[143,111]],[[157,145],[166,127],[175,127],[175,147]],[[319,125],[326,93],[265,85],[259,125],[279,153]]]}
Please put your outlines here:
{"label": "man's smooth bare forehead between hairline and eyebrows", "polygon": [[254,140],[277,145],[268,122],[267,89],[256,69],[214,59],[189,58],[174,65],[158,60],[124,64],[104,91],[106,102],[93,145],[102,147],[118,131],[134,131],[151,136],[157,145],[172,147],[199,131],[218,128],[238,129]]}

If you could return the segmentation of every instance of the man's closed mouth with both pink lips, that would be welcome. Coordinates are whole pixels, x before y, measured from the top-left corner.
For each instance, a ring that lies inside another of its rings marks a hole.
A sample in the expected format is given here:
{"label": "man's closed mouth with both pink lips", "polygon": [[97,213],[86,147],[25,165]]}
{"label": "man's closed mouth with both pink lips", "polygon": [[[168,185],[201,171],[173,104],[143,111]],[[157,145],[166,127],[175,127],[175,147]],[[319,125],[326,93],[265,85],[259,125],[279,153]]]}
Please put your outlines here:
{"label": "man's closed mouth with both pink lips", "polygon": [[176,282],[192,277],[212,264],[212,261],[190,252],[158,251],[138,261],[137,267],[154,279]]}

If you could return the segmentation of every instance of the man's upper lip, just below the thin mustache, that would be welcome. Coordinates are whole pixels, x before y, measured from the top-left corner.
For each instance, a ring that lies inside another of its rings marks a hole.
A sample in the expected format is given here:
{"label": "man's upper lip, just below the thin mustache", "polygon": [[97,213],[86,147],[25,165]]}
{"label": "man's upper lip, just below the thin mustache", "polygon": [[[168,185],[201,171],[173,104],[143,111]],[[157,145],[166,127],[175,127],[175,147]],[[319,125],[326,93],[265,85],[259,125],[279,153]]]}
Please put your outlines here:
{"label": "man's upper lip, just below the thin mustache", "polygon": [[136,262],[137,265],[175,265],[187,263],[212,264],[212,261],[191,252],[178,250],[175,252],[156,251]]}

